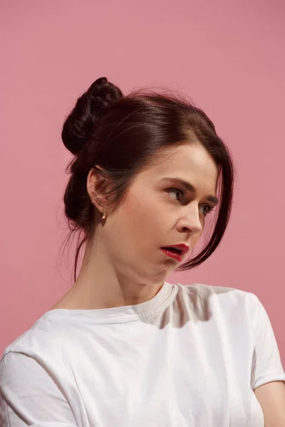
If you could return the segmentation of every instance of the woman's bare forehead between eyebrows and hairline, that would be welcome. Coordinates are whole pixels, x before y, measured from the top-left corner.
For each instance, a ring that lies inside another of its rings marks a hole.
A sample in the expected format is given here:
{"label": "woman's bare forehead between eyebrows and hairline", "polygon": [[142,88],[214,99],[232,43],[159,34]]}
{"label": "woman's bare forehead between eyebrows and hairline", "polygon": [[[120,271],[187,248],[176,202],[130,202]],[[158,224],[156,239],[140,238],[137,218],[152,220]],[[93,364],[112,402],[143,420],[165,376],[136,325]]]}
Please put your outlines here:
{"label": "woman's bare forehead between eyebrows and hairline", "polygon": [[217,165],[201,144],[183,144],[165,150],[143,174],[152,182],[172,176],[189,181],[198,191],[204,189],[211,194],[217,191]]}

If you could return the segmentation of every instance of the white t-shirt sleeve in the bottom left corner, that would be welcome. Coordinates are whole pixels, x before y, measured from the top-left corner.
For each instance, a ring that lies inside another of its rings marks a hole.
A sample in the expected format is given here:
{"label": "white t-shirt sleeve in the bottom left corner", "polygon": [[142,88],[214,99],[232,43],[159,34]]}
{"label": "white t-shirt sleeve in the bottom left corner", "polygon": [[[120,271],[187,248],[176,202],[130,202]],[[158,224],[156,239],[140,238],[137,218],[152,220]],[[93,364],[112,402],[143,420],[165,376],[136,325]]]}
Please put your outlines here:
{"label": "white t-shirt sleeve in the bottom left corner", "polygon": [[0,363],[1,427],[75,427],[71,406],[51,372],[26,354],[10,352]]}

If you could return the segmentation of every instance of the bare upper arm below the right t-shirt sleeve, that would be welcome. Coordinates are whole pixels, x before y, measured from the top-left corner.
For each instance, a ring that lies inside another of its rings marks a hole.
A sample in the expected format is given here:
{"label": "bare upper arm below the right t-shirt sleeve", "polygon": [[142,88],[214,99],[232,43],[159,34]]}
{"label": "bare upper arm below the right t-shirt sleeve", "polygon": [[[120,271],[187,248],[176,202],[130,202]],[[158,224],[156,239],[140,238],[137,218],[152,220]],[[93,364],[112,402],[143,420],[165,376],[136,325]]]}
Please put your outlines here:
{"label": "bare upper arm below the right t-shirt sleeve", "polygon": [[264,413],[265,427],[285,426],[285,383],[272,381],[254,389]]}

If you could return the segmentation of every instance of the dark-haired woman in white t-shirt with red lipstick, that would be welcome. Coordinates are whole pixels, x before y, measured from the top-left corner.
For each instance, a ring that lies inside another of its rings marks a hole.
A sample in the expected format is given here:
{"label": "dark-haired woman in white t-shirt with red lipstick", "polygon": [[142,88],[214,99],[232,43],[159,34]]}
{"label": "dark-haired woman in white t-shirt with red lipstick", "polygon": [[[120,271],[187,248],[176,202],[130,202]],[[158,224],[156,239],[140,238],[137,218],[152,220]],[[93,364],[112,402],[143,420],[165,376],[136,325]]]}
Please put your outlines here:
{"label": "dark-haired woman in white t-shirt with red lipstick", "polygon": [[258,298],[165,281],[204,262],[229,220],[232,160],[207,115],[99,78],[62,139],[83,262],[71,290],[4,352],[3,426],[285,426],[285,373]]}

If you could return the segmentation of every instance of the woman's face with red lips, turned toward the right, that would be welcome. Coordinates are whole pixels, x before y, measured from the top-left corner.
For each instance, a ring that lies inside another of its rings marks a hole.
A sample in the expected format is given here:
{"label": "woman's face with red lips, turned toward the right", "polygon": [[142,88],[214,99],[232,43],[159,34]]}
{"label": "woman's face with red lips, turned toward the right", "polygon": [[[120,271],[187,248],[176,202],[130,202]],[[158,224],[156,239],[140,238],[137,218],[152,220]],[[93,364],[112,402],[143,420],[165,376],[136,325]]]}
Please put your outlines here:
{"label": "woman's face with red lips, turned toward the right", "polygon": [[105,248],[115,269],[139,283],[159,283],[177,268],[179,261],[161,248],[177,243],[193,248],[204,230],[205,216],[217,203],[218,169],[202,145],[185,144],[166,154],[136,176],[123,204],[108,214],[103,226]]}

